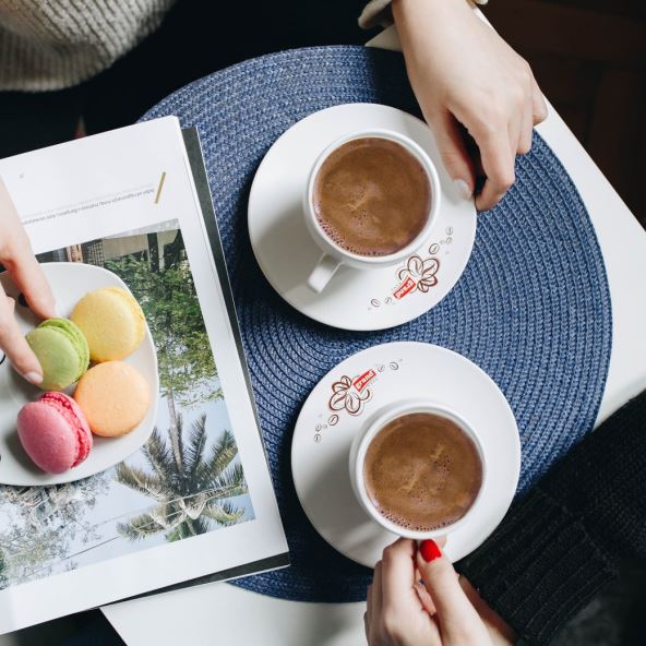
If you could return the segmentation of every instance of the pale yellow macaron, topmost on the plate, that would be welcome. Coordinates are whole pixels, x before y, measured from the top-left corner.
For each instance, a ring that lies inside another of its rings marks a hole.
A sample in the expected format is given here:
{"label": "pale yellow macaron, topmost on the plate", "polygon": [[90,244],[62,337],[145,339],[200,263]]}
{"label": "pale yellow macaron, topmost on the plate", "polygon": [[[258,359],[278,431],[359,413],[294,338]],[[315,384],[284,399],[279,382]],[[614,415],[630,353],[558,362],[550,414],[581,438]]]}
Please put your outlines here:
{"label": "pale yellow macaron, topmost on the plate", "polygon": [[95,363],[132,355],[146,333],[146,319],[134,297],[120,287],[86,294],[70,319],[85,335]]}

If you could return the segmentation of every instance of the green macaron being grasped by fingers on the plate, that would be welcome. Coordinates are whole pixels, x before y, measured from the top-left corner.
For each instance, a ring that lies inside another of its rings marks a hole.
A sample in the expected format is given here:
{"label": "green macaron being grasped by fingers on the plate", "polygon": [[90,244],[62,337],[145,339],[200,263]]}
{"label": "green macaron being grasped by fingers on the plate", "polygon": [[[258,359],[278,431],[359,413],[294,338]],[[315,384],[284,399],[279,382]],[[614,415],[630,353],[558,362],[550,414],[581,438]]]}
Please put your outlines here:
{"label": "green macaron being grasped by fingers on the plate", "polygon": [[26,336],[43,368],[44,391],[62,391],[79,381],[89,364],[85,336],[67,319],[48,319]]}

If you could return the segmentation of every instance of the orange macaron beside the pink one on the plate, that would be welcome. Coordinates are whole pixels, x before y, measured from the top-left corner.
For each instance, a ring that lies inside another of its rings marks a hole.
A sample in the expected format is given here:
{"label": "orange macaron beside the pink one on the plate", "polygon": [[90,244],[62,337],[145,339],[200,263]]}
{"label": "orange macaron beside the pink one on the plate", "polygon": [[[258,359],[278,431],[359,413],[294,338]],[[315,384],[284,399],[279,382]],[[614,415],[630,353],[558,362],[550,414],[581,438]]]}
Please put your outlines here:
{"label": "orange macaron beside the pink one on the plate", "polygon": [[151,388],[130,363],[107,361],[91,368],[74,392],[93,433],[118,438],[139,426],[151,405]]}

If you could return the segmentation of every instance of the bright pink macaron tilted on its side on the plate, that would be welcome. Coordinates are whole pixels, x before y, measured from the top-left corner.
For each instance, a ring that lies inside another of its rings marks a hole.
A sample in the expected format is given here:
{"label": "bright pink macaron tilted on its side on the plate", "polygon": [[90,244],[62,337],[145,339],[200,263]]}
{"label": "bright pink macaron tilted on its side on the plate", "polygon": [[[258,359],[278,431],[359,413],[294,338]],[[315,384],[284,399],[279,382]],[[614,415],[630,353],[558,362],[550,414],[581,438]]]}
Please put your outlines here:
{"label": "bright pink macaron tilted on its side on the plate", "polygon": [[44,393],[17,415],[17,436],[36,466],[62,474],[80,465],[92,448],[87,420],[74,399],[63,393]]}

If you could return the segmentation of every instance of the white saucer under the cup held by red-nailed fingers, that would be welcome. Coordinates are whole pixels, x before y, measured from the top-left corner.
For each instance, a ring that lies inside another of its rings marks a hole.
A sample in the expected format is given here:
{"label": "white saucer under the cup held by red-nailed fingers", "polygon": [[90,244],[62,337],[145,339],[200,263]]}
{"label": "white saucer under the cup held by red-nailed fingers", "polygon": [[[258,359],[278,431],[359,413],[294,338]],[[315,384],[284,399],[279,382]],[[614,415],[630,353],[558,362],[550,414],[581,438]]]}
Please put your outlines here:
{"label": "white saucer under the cup held by red-nailed fingers", "polygon": [[[356,384],[359,384],[357,387]],[[521,442],[507,400],[475,363],[422,343],[392,343],[352,355],[314,387],[296,422],[291,470],[301,505],[319,534],[342,554],[368,567],[396,539],[359,506],[349,477],[352,438],[385,404],[429,397],[452,408],[478,433],[488,477],[482,504],[447,536],[457,561],[474,551],[505,515],[518,483]]]}

